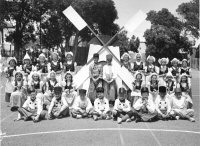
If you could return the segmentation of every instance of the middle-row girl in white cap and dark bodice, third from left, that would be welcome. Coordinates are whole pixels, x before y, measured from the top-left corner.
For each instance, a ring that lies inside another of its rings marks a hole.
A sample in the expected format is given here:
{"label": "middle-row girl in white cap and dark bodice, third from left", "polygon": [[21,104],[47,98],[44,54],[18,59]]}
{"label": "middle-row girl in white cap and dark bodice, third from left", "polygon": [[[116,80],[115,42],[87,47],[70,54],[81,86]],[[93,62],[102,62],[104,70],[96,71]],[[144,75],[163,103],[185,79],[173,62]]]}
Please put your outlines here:
{"label": "middle-row girl in white cap and dark bodice, third from left", "polygon": [[44,106],[45,108],[48,110],[51,100],[53,98],[53,92],[54,92],[54,88],[56,86],[59,86],[58,81],[56,79],[56,73],[54,71],[51,71],[48,74],[48,79],[46,81],[46,83],[44,84],[43,87],[45,87],[45,93],[44,93]]}

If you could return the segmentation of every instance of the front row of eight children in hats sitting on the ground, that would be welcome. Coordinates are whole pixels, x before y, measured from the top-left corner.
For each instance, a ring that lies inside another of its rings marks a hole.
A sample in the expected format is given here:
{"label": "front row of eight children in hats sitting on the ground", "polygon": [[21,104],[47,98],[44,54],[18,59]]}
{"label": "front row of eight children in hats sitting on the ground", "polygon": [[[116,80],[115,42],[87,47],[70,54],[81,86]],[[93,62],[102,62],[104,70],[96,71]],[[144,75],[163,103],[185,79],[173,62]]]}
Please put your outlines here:
{"label": "front row of eight children in hats sitting on the ground", "polygon": [[[53,91],[53,98],[50,105],[45,105],[42,98],[36,97],[36,90],[28,89],[28,98],[22,107],[17,107],[18,119],[34,122],[47,117],[49,120],[54,118],[63,118],[72,116],[73,118],[93,117],[95,121],[99,119],[117,120],[122,122],[155,121],[169,119],[188,119],[194,122],[194,110],[190,98],[182,95],[181,88],[175,89],[175,94],[168,95],[165,86],[159,87],[159,94],[153,102],[147,87],[142,87],[141,96],[131,106],[130,101],[126,99],[125,88],[119,88],[118,98],[115,100],[114,107],[109,106],[108,99],[104,96],[104,88],[96,89],[97,98],[92,105],[90,99],[86,96],[85,89],[79,89],[79,94],[75,98],[66,99],[65,93],[62,93],[62,87],[57,86]],[[70,101],[70,102],[69,102]],[[45,110],[47,110],[45,112]]]}

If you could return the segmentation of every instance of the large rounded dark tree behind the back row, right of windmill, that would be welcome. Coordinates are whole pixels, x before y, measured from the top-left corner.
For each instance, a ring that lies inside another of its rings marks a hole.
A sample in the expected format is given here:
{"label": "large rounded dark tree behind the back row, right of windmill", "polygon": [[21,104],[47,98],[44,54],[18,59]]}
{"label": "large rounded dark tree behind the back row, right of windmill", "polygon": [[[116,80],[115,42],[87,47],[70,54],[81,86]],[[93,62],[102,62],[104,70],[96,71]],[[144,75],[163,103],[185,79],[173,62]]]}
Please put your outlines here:
{"label": "large rounded dark tree behind the back row, right of windmill", "polygon": [[152,24],[144,33],[146,39],[146,56],[181,58],[179,49],[191,51],[188,38],[181,35],[183,24],[167,9],[147,13],[147,20]]}

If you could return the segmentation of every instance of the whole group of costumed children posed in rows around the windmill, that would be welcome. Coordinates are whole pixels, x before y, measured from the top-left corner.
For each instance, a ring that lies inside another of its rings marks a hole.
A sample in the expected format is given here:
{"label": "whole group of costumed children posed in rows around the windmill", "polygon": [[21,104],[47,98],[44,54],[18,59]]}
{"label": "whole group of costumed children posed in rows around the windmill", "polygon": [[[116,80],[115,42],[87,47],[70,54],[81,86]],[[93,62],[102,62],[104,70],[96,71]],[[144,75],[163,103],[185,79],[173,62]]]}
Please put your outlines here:
{"label": "whole group of costumed children posed in rows around the windmill", "polygon": [[51,60],[42,53],[35,65],[28,54],[20,66],[16,66],[14,57],[8,59],[5,101],[11,111],[18,111],[16,120],[38,122],[72,116],[92,117],[95,121],[113,119],[119,124],[179,118],[195,121],[191,70],[186,59],[181,63],[173,59],[169,68],[168,58],[162,58],[157,67],[153,56],[148,56],[144,63],[138,53],[132,63],[130,55],[124,53],[122,65],[134,76],[133,87],[129,89],[125,83],[117,87],[113,56],[108,54],[104,65],[99,63],[99,54],[95,53],[94,63],[89,68],[90,86],[85,90],[77,89],[73,83],[77,72],[73,53],[65,55],[66,60],[61,62],[57,52],[52,52]]}

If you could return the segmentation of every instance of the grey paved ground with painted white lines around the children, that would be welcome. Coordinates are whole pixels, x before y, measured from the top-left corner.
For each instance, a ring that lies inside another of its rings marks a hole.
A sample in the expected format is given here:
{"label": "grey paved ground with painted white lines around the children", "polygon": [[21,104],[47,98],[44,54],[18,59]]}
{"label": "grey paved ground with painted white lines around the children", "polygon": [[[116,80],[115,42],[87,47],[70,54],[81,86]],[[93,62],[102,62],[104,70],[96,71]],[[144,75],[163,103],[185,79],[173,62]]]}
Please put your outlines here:
{"label": "grey paved ground with painted white lines around the children", "polygon": [[5,79],[1,77],[1,142],[2,146],[199,146],[200,100],[199,72],[193,70],[192,92],[196,122],[158,121],[154,123],[123,123],[92,119],[58,119],[14,122],[12,113],[4,102]]}

